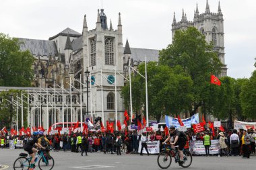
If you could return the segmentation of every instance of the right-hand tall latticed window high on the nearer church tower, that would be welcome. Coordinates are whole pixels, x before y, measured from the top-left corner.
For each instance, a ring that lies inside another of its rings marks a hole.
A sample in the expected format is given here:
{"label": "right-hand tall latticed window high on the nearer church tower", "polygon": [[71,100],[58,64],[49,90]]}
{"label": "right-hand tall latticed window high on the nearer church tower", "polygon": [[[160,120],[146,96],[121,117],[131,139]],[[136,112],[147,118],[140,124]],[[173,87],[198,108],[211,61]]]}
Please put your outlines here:
{"label": "right-hand tall latticed window high on the nearer church tower", "polygon": [[114,38],[105,38],[105,65],[114,65]]}

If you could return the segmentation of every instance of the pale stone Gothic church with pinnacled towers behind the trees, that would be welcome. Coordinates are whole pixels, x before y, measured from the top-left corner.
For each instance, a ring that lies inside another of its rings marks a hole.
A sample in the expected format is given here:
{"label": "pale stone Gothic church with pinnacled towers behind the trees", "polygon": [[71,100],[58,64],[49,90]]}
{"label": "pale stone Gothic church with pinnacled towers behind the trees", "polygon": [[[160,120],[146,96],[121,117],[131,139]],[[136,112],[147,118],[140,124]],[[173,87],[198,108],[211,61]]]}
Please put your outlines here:
{"label": "pale stone Gothic church with pinnacled towers behind the trees", "polygon": [[[28,124],[31,126],[41,125],[44,128],[48,128],[46,122],[51,126],[55,122],[80,121],[79,103],[82,103],[83,122],[88,114],[86,107],[88,107],[89,114],[95,117],[103,117],[104,122],[106,120],[115,121],[117,107],[117,119],[123,122],[124,106],[120,92],[125,81],[119,73],[127,77],[129,74],[128,66],[131,65],[131,67],[136,68],[140,62],[144,62],[145,57],[147,57],[147,61],[158,61],[159,50],[130,48],[128,40],[126,40],[124,46],[121,13],[116,17],[119,17],[119,22],[115,24],[117,25],[115,28],[111,20],[108,25],[109,20],[104,13],[104,9],[101,9],[98,10],[97,18],[95,18],[95,28],[88,28],[86,15],[84,15],[82,33],[66,28],[55,36],[50,37],[49,40],[19,38],[20,42],[22,42],[20,45],[21,50],[30,50],[36,59],[33,65],[33,88],[27,89],[30,93],[34,89],[42,94],[39,97],[38,93],[34,93],[34,97],[32,97],[30,102],[32,109],[28,115]],[[193,22],[187,21],[184,11],[181,22],[176,22],[174,14],[172,37],[175,30],[195,26],[205,34],[208,42],[214,42],[215,48],[219,52],[220,60],[225,64],[223,21],[220,5],[218,13],[211,13],[207,1],[205,13],[199,14],[197,8]],[[86,104],[87,77],[84,74],[87,69],[90,71],[88,105]],[[115,70],[119,72],[116,73],[116,76]],[[224,65],[221,76],[224,75],[226,75],[226,65]],[[82,83],[84,83],[82,86],[82,101],[80,101],[81,93],[74,90],[75,88],[80,88],[80,76]],[[72,87],[72,97],[68,92],[65,92],[62,97],[60,95],[61,87],[69,91],[69,84],[75,87]],[[115,85],[117,86],[117,94],[115,93]],[[53,93],[54,87],[58,95],[50,96],[48,101],[51,101],[51,104],[55,102],[55,110],[53,110],[53,107],[46,110],[46,96],[49,97],[49,95],[46,95],[45,89],[48,88]],[[44,89],[44,91],[40,90],[40,88]],[[117,100],[115,95],[117,95]],[[41,103],[35,106],[38,100]],[[64,108],[63,102],[65,103]],[[42,106],[42,109],[40,109],[39,105]],[[72,105],[71,108],[69,108],[70,105]]]}

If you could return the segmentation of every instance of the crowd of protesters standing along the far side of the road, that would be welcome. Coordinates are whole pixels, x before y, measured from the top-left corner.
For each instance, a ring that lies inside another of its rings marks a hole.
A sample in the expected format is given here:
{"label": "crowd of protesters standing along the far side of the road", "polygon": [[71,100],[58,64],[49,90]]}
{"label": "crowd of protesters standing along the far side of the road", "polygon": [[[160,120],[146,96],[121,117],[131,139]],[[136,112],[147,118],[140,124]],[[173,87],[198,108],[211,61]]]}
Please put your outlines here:
{"label": "crowd of protesters standing along the far side of the road", "polygon": [[[187,132],[187,144],[185,148],[189,148],[190,140],[201,140],[205,146],[205,155],[209,156],[209,148],[211,147],[211,140],[218,139],[220,141],[219,157],[230,155],[243,155],[243,158],[249,158],[250,154],[255,155],[255,138],[256,132],[253,129],[247,130],[226,130],[226,132],[212,132],[209,128],[203,132],[195,133],[191,129]],[[142,138],[141,138],[142,136]],[[160,129],[156,132],[143,132],[138,134],[137,130],[133,131],[115,131],[110,132],[89,132],[82,134],[75,132],[71,134],[55,134],[46,135],[46,142],[49,144],[51,151],[71,151],[73,153],[81,153],[81,155],[88,155],[88,153],[102,152],[104,154],[141,154],[139,151],[139,141],[145,147],[146,141],[160,140],[160,148],[162,142],[168,136],[168,131],[162,132]],[[17,144],[17,140],[23,140],[24,145],[29,136],[0,136],[1,148],[9,147],[9,140]],[[142,148],[142,147],[141,147]],[[147,146],[145,147],[147,148]],[[148,149],[146,149],[148,151]],[[148,153],[148,152],[147,152]]]}

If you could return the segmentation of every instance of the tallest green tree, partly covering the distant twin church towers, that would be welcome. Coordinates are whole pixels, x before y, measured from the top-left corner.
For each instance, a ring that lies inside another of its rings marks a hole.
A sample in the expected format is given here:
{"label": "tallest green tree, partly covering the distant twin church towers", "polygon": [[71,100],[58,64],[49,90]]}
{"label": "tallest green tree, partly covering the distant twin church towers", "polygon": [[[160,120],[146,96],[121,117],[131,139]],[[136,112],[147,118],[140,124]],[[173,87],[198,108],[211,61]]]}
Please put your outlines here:
{"label": "tallest green tree, partly covering the distant twin church towers", "polygon": [[195,114],[200,106],[210,105],[210,98],[214,100],[209,85],[210,75],[218,75],[222,64],[214,46],[207,43],[205,36],[196,28],[175,32],[172,44],[160,51],[160,65],[180,65],[191,77],[194,98],[189,107],[191,115]]}

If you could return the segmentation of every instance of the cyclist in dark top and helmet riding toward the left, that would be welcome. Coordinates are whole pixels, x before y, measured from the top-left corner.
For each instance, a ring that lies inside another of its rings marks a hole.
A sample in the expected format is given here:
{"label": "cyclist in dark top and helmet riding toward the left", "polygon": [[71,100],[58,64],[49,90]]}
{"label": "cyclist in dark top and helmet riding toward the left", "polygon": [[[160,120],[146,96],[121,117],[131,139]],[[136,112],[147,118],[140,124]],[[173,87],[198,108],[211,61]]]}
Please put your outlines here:
{"label": "cyclist in dark top and helmet riding toward the left", "polygon": [[164,140],[164,142],[162,144],[166,144],[166,142],[170,142],[170,138],[173,137],[174,141],[170,142],[171,148],[175,149],[175,146],[179,146],[178,147],[178,151],[179,151],[179,156],[180,156],[180,161],[179,161],[179,165],[183,164],[183,149],[184,146],[186,144],[186,134],[184,132],[180,132],[179,130],[175,130],[174,126],[170,126],[170,135],[168,136],[168,138],[166,138],[166,140]]}

